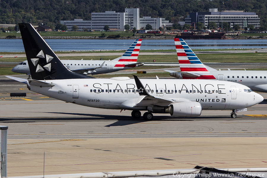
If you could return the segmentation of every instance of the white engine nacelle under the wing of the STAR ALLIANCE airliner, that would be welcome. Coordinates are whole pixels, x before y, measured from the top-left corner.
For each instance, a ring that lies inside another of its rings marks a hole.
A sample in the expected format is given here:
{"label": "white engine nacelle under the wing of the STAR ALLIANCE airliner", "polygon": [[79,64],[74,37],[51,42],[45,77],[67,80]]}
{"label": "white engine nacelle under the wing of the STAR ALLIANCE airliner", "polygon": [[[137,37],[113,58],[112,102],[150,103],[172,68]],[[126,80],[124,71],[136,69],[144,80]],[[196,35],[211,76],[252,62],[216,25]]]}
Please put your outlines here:
{"label": "white engine nacelle under the wing of the STAR ALLIANCE airliner", "polygon": [[201,115],[201,111],[201,104],[195,101],[173,103],[165,109],[165,112],[176,117],[196,117]]}

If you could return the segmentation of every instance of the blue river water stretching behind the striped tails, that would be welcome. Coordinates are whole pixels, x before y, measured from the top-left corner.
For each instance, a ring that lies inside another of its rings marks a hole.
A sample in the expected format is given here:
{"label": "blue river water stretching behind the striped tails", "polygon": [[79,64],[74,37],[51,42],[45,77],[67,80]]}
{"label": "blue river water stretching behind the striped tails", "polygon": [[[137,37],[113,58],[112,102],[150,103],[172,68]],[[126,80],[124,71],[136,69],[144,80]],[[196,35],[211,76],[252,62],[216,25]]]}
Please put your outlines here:
{"label": "blue river water stretching behind the striped tails", "polygon": [[[127,50],[133,39],[45,39],[54,51]],[[191,49],[267,48],[266,39],[185,40]],[[175,49],[172,39],[143,39],[141,50]],[[21,39],[0,39],[0,52],[24,52]]]}

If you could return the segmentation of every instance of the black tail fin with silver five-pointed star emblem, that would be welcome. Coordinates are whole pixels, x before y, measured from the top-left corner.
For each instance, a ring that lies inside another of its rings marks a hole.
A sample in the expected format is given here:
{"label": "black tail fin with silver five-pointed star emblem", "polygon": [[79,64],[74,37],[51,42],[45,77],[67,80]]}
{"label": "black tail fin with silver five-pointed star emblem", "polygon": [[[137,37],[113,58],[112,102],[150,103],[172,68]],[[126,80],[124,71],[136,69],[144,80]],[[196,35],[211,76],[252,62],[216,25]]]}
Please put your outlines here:
{"label": "black tail fin with silver five-pointed star emblem", "polygon": [[92,78],[67,69],[30,23],[19,27],[32,79]]}

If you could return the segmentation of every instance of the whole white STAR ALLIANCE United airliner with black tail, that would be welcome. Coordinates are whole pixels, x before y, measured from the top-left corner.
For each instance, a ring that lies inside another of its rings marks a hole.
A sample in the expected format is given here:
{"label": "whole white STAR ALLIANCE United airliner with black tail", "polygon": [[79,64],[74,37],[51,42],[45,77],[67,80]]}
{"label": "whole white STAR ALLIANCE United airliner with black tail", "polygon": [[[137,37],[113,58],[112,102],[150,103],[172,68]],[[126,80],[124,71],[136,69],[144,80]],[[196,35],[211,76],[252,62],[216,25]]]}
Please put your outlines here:
{"label": "whole white STAR ALLIANCE United airliner with black tail", "polygon": [[247,86],[227,81],[88,78],[66,68],[31,24],[21,23],[19,27],[32,79],[7,77],[45,96],[88,107],[132,110],[134,118],[147,111],[145,120],[152,120],[152,113],[195,117],[202,109],[229,109],[235,118],[236,112],[263,101]]}

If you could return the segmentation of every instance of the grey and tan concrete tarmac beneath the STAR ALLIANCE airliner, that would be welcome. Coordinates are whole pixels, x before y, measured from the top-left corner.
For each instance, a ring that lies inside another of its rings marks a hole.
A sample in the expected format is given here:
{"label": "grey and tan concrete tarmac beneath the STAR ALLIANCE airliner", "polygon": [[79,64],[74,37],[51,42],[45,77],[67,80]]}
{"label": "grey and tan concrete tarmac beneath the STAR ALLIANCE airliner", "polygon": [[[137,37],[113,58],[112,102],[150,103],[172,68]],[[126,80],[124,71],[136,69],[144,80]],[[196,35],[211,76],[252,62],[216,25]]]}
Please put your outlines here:
{"label": "grey and tan concrete tarmac beneath the STAR ALLIANCE airliner", "polygon": [[[44,152],[45,175],[267,167],[267,104],[237,113],[235,119],[230,110],[204,110],[200,117],[155,114],[155,120],[145,121],[132,119],[130,111],[47,98],[4,78],[0,125],[9,127],[8,177],[42,175]],[[11,99],[13,92],[27,96]],[[260,94],[267,99],[267,93]]]}

